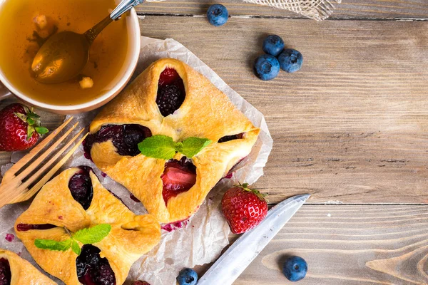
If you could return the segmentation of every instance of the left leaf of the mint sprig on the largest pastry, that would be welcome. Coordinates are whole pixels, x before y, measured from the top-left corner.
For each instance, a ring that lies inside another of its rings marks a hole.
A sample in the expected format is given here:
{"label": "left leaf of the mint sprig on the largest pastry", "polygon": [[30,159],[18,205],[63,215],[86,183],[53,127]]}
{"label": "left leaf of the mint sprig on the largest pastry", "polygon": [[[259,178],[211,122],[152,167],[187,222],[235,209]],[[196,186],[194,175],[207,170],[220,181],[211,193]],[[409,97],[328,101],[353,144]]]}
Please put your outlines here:
{"label": "left leaf of the mint sprig on the largest pastry", "polygon": [[173,138],[166,135],[153,135],[138,143],[138,150],[146,157],[170,160],[175,155]]}

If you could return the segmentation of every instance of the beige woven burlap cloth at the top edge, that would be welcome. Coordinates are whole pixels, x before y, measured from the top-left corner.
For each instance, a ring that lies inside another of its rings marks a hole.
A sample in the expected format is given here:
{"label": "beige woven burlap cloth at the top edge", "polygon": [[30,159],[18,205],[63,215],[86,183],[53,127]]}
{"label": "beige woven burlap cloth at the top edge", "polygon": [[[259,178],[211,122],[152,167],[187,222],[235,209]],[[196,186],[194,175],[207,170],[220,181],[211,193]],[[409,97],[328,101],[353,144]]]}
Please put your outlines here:
{"label": "beige woven burlap cloth at the top edge", "polygon": [[[159,2],[165,0],[146,0],[148,2]],[[239,0],[236,0],[239,1]],[[327,19],[335,10],[334,4],[339,4],[342,0],[243,0],[244,2],[271,6],[277,9],[283,9],[295,12],[316,21]],[[222,3],[221,0],[213,3]],[[227,4],[223,3],[225,6]]]}

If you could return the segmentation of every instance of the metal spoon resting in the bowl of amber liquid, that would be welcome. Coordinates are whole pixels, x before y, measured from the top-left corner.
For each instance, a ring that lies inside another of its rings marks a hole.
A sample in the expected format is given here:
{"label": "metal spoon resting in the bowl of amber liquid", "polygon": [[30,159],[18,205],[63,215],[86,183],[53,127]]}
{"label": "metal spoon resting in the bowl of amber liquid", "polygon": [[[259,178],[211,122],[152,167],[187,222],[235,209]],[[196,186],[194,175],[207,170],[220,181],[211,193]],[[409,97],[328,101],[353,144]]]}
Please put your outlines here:
{"label": "metal spoon resting in the bowl of amber liquid", "polygon": [[145,0],[123,0],[110,15],[85,33],[62,31],[41,46],[31,64],[35,78],[41,83],[61,83],[78,76],[89,58],[93,40],[112,21]]}

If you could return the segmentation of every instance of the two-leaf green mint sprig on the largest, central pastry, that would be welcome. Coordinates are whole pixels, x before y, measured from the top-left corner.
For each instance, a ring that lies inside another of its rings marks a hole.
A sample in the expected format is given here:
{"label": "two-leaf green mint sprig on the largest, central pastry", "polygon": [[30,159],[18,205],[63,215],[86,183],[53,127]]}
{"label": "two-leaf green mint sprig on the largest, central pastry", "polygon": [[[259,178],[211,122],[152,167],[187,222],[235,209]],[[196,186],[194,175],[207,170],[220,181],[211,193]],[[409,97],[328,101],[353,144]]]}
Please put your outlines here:
{"label": "two-leaf green mint sprig on the largest, central pastry", "polygon": [[161,160],[170,160],[176,152],[180,152],[186,157],[197,155],[212,140],[206,138],[187,138],[183,142],[174,142],[173,138],[166,135],[153,135],[138,144],[138,150],[146,157],[153,157]]}

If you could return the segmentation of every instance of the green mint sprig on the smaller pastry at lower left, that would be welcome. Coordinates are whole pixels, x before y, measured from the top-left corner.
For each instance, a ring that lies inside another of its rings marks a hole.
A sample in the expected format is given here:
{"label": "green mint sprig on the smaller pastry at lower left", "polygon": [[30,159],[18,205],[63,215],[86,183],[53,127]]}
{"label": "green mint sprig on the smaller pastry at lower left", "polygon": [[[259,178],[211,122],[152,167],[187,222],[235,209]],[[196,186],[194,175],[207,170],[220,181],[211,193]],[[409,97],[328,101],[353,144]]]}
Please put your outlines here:
{"label": "green mint sprig on the smaller pastry at lower left", "polygon": [[34,241],[34,245],[39,249],[49,249],[58,252],[65,252],[71,248],[75,254],[79,255],[81,254],[81,248],[77,242],[81,242],[82,244],[95,244],[96,242],[101,242],[103,238],[107,237],[110,231],[110,224],[97,224],[91,228],[80,229],[74,234],[70,234],[68,229],[66,229],[66,232],[70,234],[69,239],[61,242],[57,242],[54,239],[36,239]]}

